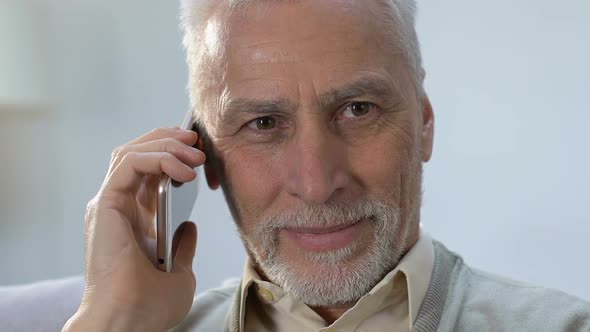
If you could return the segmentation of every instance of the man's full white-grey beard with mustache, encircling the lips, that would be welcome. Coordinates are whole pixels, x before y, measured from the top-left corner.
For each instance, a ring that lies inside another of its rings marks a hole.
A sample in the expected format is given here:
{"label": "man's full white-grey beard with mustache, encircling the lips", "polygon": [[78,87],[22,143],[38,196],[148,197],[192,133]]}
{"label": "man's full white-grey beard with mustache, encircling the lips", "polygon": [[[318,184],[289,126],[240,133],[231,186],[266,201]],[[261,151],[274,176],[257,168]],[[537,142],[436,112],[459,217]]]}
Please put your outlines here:
{"label": "man's full white-grey beard with mustache, encircling the lips", "polygon": [[[360,243],[303,257],[316,266],[313,275],[297,271],[279,254],[279,232],[286,227],[333,226],[335,222],[366,218],[372,243],[358,255]],[[246,249],[270,281],[303,303],[327,307],[354,303],[367,294],[399,262],[410,225],[400,222],[392,199],[363,199],[338,204],[307,205],[297,211],[264,217],[251,236],[240,235]],[[403,233],[403,234],[402,234]]]}

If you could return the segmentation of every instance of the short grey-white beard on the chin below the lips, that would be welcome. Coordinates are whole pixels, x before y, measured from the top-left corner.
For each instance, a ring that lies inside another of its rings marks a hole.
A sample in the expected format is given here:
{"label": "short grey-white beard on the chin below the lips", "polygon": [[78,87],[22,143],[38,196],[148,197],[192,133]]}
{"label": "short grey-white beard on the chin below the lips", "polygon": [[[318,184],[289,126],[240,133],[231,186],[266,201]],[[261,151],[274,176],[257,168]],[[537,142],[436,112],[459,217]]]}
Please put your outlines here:
{"label": "short grey-white beard on the chin below the lips", "polygon": [[[397,265],[401,246],[393,238],[329,252],[281,252],[259,264],[266,277],[301,302],[328,307],[357,302]],[[400,248],[400,249],[396,249]]]}

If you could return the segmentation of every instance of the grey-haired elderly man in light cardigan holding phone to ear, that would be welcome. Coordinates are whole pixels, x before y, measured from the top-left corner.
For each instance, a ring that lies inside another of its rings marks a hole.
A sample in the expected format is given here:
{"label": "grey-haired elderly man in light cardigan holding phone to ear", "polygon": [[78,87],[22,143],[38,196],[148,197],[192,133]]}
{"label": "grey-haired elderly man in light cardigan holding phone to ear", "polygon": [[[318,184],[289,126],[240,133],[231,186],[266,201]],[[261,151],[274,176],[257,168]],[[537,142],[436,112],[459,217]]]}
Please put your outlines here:
{"label": "grey-haired elderly man in light cardigan holding phone to ear", "polygon": [[[471,269],[421,232],[434,115],[412,0],[182,10],[199,133],[157,129],[115,150],[64,331],[590,331],[588,303]],[[191,181],[202,164],[249,260],[240,282],[193,299],[195,226],[172,273],[143,239],[159,175]]]}

